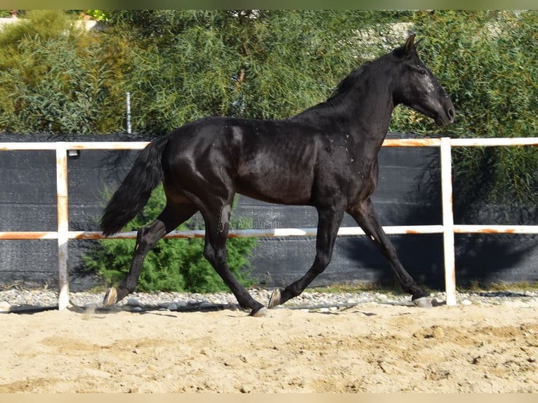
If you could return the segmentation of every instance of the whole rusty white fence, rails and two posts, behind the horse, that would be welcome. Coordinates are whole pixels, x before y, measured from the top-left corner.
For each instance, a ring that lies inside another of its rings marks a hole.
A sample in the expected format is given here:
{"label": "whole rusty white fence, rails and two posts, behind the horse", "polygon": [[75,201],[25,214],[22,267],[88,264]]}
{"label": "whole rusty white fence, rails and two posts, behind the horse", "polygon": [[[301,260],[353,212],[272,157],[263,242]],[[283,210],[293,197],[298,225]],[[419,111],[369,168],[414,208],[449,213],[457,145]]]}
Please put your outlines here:
{"label": "whole rusty white fence, rails and two posts, behind the horse", "polygon": [[[55,143],[0,143],[6,150],[55,150],[56,192],[58,209],[57,231],[0,232],[0,239],[58,239],[58,308],[69,304],[69,276],[67,245],[70,239],[101,239],[100,232],[70,231],[67,203],[67,150],[140,150],[147,142],[55,142]],[[538,145],[534,138],[422,138],[386,139],[383,147],[440,147],[442,191],[442,225],[414,225],[383,227],[387,234],[442,234],[445,265],[447,305],[456,305],[456,273],[454,234],[509,233],[538,234],[538,225],[456,225],[452,211],[452,147]],[[230,230],[230,237],[304,237],[315,236],[316,228],[275,228],[273,230]],[[339,235],[364,235],[360,227],[341,227]],[[167,237],[202,238],[204,231],[175,231]],[[136,232],[122,232],[114,238],[136,238]]]}

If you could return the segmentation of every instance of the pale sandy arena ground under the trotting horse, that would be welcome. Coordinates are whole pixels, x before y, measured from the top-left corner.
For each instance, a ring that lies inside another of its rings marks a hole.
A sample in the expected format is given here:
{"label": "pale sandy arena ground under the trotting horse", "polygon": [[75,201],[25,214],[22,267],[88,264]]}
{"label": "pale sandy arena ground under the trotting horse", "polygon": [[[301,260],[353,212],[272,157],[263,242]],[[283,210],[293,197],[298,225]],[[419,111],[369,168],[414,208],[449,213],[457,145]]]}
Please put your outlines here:
{"label": "pale sandy arena ground under the trotting horse", "polygon": [[0,315],[0,392],[538,392],[538,303]]}

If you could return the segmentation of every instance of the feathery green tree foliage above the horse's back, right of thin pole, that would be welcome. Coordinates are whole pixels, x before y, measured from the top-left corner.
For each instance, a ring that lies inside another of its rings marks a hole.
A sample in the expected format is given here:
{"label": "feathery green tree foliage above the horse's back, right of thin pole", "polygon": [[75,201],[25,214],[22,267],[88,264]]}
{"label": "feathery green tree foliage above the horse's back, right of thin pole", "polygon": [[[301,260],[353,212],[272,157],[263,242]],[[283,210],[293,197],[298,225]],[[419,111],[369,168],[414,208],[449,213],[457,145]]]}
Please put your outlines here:
{"label": "feathery green tree foliage above the horse's back, right of thin pole", "polygon": [[162,133],[208,115],[285,118],[328,98],[373,42],[357,45],[365,11],[122,11],[133,127]]}

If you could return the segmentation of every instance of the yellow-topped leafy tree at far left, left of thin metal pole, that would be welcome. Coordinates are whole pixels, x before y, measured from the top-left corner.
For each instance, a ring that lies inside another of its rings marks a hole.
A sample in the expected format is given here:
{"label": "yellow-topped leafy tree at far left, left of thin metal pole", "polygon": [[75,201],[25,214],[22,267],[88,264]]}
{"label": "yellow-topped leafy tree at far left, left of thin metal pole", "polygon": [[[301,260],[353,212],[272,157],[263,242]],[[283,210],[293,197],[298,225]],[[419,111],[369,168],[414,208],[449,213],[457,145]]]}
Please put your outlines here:
{"label": "yellow-topped leafy tree at far left, left of thin metal pole", "polygon": [[26,16],[0,32],[1,130],[118,131],[122,113],[117,105],[123,103],[115,84],[119,63],[111,56],[121,52],[75,27],[62,11],[28,11]]}

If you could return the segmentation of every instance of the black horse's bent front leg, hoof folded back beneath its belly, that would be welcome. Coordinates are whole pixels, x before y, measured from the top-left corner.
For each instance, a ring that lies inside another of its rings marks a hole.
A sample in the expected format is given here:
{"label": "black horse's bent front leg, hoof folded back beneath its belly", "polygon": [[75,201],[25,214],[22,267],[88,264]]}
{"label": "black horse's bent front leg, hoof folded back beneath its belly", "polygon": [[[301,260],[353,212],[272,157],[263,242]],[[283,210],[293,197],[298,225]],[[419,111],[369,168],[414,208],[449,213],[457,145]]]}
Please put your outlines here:
{"label": "black horse's bent front leg, hoof folded back beneath its belly", "polygon": [[343,218],[343,210],[317,209],[319,221],[317,223],[316,256],[314,264],[306,274],[296,282],[289,284],[285,289],[277,289],[271,295],[268,308],[285,303],[290,298],[301,294],[315,277],[320,275],[332,258],[332,250],[336,241],[340,224]]}

